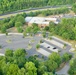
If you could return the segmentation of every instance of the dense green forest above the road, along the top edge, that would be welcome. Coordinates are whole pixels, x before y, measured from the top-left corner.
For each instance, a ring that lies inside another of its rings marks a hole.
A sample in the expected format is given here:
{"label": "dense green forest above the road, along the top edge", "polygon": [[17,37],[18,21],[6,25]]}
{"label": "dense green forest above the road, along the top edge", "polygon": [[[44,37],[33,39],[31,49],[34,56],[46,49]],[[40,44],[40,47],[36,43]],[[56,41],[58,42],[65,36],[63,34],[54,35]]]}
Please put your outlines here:
{"label": "dense green forest above the road, along the top edge", "polygon": [[75,0],[0,0],[0,14],[42,6],[73,4]]}

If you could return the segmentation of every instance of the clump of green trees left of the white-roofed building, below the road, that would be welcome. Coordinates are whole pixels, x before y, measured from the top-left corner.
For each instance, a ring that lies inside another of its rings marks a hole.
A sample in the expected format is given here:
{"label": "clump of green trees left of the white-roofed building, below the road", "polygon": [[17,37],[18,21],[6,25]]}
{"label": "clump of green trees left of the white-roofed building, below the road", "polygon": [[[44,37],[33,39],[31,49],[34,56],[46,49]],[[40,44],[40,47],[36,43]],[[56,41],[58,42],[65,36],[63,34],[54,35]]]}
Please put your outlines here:
{"label": "clump of green trees left of the white-roofed building, below the road", "polygon": [[0,21],[0,31],[6,33],[7,29],[16,27],[19,32],[22,32],[22,26],[25,24],[24,14],[16,15],[15,17],[6,18]]}

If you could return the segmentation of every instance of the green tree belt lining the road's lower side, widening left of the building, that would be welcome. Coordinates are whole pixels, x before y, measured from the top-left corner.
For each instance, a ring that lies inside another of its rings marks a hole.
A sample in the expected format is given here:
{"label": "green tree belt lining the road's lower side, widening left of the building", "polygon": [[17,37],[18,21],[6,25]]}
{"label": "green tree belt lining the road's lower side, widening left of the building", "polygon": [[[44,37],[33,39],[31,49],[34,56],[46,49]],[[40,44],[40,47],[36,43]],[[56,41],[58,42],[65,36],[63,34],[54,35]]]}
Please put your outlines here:
{"label": "green tree belt lining the road's lower side, widening left of the building", "polygon": [[18,14],[16,16],[12,16],[10,18],[6,18],[3,20],[0,20],[0,31],[2,33],[6,33],[7,29],[11,27],[16,27],[18,32],[23,32],[22,26],[25,24],[25,17],[26,16],[37,16],[39,14],[42,14],[43,16],[49,16],[49,15],[55,15],[55,14],[61,14],[61,13],[68,13],[69,9],[66,7],[53,9],[53,10],[43,10],[43,11],[36,11],[36,12],[29,12],[29,13],[23,13]]}

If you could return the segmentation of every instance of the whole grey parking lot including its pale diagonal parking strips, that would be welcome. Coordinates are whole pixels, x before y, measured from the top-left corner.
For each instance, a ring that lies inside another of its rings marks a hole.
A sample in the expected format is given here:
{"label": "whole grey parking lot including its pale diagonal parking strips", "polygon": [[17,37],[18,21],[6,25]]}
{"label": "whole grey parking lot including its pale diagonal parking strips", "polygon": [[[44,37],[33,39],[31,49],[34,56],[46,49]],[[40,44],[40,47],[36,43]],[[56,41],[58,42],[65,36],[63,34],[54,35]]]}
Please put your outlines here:
{"label": "whole grey parking lot including its pale diagonal parking strips", "polygon": [[[43,40],[43,43],[39,43]],[[40,44],[40,48],[37,50],[36,45]],[[66,47],[64,48],[64,45]],[[48,57],[52,52],[57,52],[63,55],[65,52],[69,52],[71,46],[59,39],[52,37],[52,39],[44,39],[42,36],[26,37],[23,35],[2,35],[0,36],[0,54],[4,54],[6,49],[16,50],[18,48],[24,48],[28,56],[39,55]]]}

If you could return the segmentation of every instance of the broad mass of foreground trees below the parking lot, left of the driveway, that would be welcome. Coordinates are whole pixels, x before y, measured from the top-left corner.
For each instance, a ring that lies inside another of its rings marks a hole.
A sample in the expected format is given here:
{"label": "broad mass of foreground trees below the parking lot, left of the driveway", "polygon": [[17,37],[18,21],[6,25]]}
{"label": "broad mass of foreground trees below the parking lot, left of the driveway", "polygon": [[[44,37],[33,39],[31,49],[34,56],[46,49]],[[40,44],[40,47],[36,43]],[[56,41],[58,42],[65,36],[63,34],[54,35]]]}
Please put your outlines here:
{"label": "broad mass of foreground trees below the parking lot, left of the driveway", "polygon": [[44,61],[42,57],[40,59],[43,61],[40,61],[38,55],[28,58],[27,55],[25,49],[7,49],[5,56],[0,56],[0,75],[55,75],[60,64],[72,57],[68,53],[62,57],[58,53],[52,53],[47,60]]}

